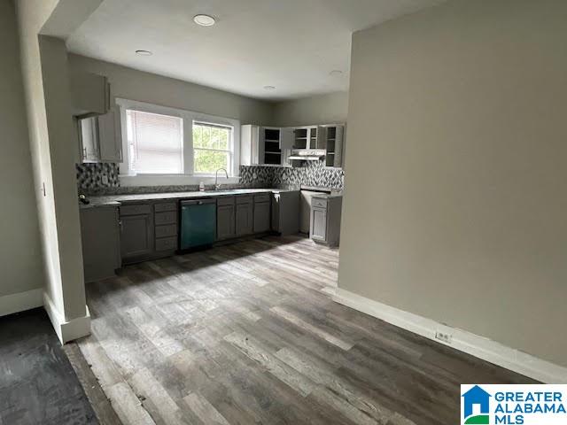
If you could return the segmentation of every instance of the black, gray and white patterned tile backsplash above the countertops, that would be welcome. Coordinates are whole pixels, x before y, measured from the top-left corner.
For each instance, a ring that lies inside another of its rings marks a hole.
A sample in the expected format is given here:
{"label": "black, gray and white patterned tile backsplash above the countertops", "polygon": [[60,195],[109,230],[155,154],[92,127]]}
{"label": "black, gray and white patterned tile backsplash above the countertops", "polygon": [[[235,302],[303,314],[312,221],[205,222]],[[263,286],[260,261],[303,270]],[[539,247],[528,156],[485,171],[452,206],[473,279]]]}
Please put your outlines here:
{"label": "black, gray and white patterned tile backsplash above the countertops", "polygon": [[[198,185],[120,187],[118,164],[77,164],[77,188],[89,195],[175,192],[197,190]],[[103,176],[108,182],[103,183]],[[303,166],[240,166],[240,183],[225,187],[288,188],[313,186],[343,189],[345,172],[324,166],[322,161],[307,161]]]}

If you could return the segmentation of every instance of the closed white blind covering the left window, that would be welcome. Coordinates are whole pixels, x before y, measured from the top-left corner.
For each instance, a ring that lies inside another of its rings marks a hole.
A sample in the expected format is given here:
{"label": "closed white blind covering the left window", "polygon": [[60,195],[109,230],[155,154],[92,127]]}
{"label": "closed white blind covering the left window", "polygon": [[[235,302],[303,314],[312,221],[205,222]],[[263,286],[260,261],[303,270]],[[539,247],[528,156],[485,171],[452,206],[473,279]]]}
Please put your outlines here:
{"label": "closed white blind covering the left window", "polygon": [[132,174],[183,174],[183,119],[129,109],[126,119]]}

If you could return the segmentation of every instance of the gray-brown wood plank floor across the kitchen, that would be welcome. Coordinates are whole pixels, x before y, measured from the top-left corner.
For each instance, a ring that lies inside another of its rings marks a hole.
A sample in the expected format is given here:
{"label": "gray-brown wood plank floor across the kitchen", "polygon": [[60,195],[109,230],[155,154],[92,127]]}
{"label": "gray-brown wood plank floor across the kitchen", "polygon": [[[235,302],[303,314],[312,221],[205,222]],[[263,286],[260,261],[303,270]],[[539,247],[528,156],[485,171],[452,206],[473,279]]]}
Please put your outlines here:
{"label": "gray-brown wood plank floor across the kitchen", "polygon": [[334,303],[338,250],[296,236],[88,285],[79,343],[125,424],[452,424],[460,383],[530,383]]}

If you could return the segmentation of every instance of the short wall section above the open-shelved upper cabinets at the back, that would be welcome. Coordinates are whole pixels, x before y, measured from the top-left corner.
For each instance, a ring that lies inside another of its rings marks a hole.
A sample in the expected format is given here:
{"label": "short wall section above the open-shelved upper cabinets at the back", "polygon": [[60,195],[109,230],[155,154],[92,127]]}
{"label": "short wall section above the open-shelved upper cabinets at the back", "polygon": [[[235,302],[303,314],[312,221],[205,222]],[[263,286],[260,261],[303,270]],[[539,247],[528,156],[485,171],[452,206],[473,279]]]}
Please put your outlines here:
{"label": "short wall section above the open-shelved upper cabinets at the back", "polygon": [[348,93],[346,92],[305,97],[276,103],[273,125],[291,127],[346,122],[347,112]]}

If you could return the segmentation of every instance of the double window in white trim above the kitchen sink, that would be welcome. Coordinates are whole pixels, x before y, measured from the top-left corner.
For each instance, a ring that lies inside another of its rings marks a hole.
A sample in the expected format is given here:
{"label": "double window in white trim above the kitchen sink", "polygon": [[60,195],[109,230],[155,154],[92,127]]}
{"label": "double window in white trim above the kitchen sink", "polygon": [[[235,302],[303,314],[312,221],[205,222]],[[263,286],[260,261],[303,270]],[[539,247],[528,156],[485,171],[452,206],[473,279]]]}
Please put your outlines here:
{"label": "double window in white trim above the kitchen sink", "polygon": [[127,99],[116,104],[124,154],[120,184],[210,183],[219,168],[238,181],[240,121]]}

